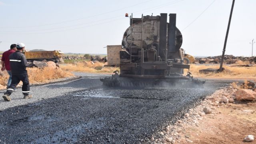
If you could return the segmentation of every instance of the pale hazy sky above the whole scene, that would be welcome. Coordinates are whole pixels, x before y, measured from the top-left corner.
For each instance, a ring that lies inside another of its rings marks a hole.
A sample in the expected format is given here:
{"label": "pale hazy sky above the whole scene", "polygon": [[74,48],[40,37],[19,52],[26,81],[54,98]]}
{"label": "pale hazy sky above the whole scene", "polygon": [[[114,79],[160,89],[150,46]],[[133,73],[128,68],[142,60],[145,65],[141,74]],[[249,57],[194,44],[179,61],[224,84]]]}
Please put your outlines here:
{"label": "pale hazy sky above the whole scene", "polygon": [[[0,51],[24,42],[28,50],[106,54],[103,47],[122,42],[129,26],[125,13],[138,18],[142,13],[176,13],[186,53],[216,56],[222,54],[231,4],[232,0],[0,0]],[[256,0],[236,0],[226,54],[251,55],[255,8]]]}

